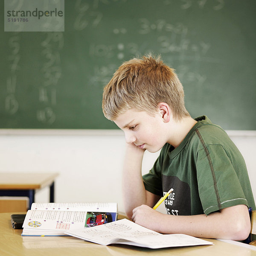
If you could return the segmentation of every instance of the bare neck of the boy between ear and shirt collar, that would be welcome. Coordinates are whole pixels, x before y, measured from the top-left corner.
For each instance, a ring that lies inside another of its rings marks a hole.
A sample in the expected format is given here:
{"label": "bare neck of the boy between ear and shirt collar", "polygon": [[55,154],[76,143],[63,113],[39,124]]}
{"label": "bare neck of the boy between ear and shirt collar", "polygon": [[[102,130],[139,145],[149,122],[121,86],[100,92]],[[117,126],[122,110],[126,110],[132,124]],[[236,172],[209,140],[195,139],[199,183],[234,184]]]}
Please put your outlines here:
{"label": "bare neck of the boy between ear and shirt collar", "polygon": [[167,142],[177,148],[196,123],[197,121],[190,116],[178,122],[170,122],[171,129],[169,131],[171,134]]}

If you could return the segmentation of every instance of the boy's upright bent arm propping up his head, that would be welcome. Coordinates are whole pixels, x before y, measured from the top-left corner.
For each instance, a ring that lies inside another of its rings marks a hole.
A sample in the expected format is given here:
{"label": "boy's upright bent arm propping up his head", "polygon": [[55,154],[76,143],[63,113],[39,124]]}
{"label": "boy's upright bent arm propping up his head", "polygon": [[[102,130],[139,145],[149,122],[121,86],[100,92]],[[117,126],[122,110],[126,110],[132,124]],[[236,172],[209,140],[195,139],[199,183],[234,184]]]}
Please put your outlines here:
{"label": "boy's upright bent arm propping up his head", "polygon": [[128,218],[133,215],[133,209],[145,204],[153,207],[160,199],[160,196],[154,195],[145,190],[141,175],[141,166],[144,155],[143,149],[134,144],[126,145],[126,153],[122,175],[122,194],[125,205],[125,213]]}

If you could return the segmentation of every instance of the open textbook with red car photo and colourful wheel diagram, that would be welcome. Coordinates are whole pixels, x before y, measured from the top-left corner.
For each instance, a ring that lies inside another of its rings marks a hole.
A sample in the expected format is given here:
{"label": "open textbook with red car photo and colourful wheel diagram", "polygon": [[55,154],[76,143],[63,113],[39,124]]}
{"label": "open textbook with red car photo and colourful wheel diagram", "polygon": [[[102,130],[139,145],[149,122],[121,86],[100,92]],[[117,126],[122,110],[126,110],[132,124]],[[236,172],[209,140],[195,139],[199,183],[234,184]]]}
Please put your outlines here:
{"label": "open textbook with red car photo and colourful wheel diagram", "polygon": [[67,236],[65,231],[99,226],[117,219],[116,203],[33,203],[21,236]]}

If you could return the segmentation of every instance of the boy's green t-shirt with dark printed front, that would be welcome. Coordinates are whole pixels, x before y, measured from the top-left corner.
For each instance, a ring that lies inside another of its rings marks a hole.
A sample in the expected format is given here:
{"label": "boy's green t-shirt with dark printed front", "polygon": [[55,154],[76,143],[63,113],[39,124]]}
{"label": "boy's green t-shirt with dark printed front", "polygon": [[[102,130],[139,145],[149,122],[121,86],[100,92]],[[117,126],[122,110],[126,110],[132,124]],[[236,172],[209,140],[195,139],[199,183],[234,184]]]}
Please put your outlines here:
{"label": "boy's green t-shirt with dark printed front", "polygon": [[244,158],[226,132],[200,116],[182,143],[166,143],[153,168],[143,175],[145,189],[165,195],[168,214],[197,215],[245,204],[255,209]]}

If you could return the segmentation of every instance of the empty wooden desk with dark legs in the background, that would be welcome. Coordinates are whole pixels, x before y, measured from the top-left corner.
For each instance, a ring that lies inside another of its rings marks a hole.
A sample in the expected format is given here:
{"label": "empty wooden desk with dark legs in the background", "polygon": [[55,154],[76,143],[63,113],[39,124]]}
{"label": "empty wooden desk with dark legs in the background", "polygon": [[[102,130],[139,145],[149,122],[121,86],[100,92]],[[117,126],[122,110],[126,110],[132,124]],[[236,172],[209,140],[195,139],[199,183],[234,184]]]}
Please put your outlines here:
{"label": "empty wooden desk with dark legs in the background", "polygon": [[0,196],[27,196],[29,209],[35,202],[35,190],[50,188],[50,203],[54,202],[54,179],[58,173],[0,173]]}

